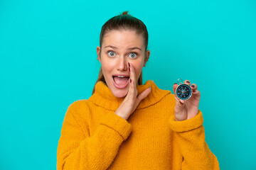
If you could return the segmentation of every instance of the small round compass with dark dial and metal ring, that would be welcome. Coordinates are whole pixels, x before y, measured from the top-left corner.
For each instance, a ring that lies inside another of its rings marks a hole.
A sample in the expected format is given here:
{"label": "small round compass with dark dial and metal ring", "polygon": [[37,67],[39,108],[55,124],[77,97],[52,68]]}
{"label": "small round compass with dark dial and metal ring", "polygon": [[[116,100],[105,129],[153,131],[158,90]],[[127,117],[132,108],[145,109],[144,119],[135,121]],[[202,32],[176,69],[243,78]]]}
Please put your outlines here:
{"label": "small round compass with dark dial and metal ring", "polygon": [[[179,80],[181,80],[181,82],[179,82]],[[188,100],[192,95],[191,87],[187,84],[182,84],[182,79],[178,79],[177,82],[179,85],[176,87],[176,96],[181,100]]]}

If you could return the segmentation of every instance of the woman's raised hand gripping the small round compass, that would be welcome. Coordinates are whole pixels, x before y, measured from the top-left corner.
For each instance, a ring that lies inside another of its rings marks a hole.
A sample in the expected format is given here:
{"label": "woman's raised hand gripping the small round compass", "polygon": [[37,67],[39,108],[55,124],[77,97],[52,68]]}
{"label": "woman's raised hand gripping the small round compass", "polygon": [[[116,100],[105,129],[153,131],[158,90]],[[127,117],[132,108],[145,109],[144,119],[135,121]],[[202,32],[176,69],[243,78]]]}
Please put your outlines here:
{"label": "woman's raised hand gripping the small round compass", "polygon": [[[184,81],[184,84],[190,86],[190,81]],[[200,101],[201,93],[197,90],[196,84],[191,85],[192,96],[188,100],[183,101],[176,96],[176,87],[178,84],[174,84],[174,97],[176,100],[176,106],[174,107],[174,116],[176,121],[188,120],[195,117],[198,114],[198,106]]]}

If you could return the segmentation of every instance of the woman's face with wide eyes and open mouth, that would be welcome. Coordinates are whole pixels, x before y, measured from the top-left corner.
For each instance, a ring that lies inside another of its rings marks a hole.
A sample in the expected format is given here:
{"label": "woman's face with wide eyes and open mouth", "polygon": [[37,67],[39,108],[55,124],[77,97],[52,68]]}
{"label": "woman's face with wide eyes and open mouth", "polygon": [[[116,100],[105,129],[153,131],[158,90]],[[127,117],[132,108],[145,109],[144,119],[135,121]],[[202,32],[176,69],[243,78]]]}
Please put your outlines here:
{"label": "woman's face with wide eyes and open mouth", "polygon": [[[102,48],[97,46],[97,60],[102,65],[105,81],[114,96],[122,98],[129,91],[128,62],[135,69],[137,84],[149,55],[149,50],[144,52],[142,35],[138,35],[134,30],[110,30],[105,33]],[[116,74],[122,74],[127,78],[116,77]]]}

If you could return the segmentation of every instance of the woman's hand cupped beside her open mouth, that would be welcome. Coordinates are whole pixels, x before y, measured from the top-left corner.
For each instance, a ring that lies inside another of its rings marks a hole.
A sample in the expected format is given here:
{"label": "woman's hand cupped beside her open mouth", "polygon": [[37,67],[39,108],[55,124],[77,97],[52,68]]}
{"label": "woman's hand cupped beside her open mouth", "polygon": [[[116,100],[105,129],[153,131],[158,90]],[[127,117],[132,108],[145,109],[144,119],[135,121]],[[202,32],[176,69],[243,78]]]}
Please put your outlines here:
{"label": "woman's hand cupped beside her open mouth", "polygon": [[129,91],[127,93],[127,96],[124,98],[124,101],[121,103],[119,108],[117,108],[117,111],[115,111],[115,114],[119,115],[125,120],[129,118],[129,116],[135,111],[142,99],[146,98],[146,96],[148,96],[151,91],[151,89],[148,88],[144,90],[142,94],[137,96],[137,83],[135,81],[136,74],[132,63],[129,63],[129,71],[129,78],[132,80],[132,82],[129,80]]}

